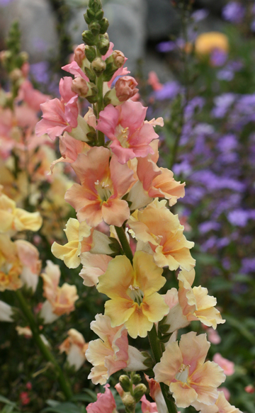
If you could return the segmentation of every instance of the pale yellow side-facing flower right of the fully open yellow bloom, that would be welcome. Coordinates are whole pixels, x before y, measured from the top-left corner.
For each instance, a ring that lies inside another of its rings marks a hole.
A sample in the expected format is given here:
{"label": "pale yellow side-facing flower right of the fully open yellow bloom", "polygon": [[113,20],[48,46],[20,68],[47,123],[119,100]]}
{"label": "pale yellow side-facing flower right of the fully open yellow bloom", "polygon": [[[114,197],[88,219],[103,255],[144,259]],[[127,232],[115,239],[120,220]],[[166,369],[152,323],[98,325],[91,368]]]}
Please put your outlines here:
{"label": "pale yellow side-facing flower right of the fully open yellow bloom", "polygon": [[200,320],[205,326],[216,329],[217,324],[225,322],[220,311],[215,308],[216,298],[208,295],[208,289],[191,287],[195,279],[195,270],[182,270],[178,274],[179,290],[171,288],[164,296],[169,305],[166,324],[170,324],[168,332],[186,327],[191,321]]}

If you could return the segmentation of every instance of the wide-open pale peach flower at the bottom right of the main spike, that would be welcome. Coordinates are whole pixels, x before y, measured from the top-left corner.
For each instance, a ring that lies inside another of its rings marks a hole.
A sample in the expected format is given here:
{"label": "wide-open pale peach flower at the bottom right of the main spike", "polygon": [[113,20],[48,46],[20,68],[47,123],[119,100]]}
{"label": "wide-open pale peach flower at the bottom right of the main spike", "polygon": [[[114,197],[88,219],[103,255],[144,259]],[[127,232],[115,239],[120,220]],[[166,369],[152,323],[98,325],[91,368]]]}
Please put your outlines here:
{"label": "wide-open pale peach flower at the bottom right of the main spike", "polygon": [[177,407],[193,402],[211,406],[217,400],[217,387],[225,380],[222,368],[205,357],[210,348],[206,334],[183,334],[166,346],[159,363],[154,366],[155,380],[169,385]]}

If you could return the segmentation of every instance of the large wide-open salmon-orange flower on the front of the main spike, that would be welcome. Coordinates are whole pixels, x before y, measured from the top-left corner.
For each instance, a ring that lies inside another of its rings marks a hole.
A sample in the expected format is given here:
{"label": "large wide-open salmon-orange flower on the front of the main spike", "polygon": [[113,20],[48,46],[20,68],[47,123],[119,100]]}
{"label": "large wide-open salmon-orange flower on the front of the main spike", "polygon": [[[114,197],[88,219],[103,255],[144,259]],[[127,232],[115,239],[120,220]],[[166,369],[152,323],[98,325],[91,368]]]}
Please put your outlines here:
{"label": "large wide-open salmon-orange flower on the front of the main spike", "polygon": [[105,147],[93,147],[87,154],[79,154],[72,163],[81,185],[74,183],[67,190],[65,200],[77,211],[78,220],[96,227],[103,220],[120,227],[130,216],[128,203],[121,198],[135,179],[127,165],[117,157],[110,159]]}

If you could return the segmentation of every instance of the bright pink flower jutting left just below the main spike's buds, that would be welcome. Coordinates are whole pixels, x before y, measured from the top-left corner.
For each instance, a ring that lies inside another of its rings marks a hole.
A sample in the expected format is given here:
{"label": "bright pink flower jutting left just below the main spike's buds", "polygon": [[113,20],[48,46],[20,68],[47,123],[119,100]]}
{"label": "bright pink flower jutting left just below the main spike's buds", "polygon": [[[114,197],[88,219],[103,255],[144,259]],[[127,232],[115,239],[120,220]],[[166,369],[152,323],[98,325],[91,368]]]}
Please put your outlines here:
{"label": "bright pink flower jutting left just below the main spike's buds", "polygon": [[40,105],[42,120],[35,127],[36,135],[47,133],[50,139],[62,135],[64,131],[72,132],[77,128],[79,109],[78,95],[71,89],[72,78],[64,77],[60,80],[61,100],[55,98]]}

